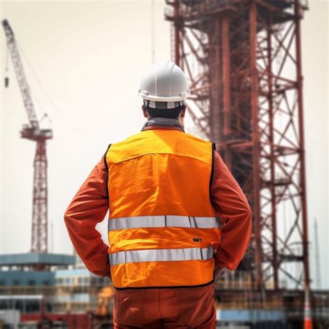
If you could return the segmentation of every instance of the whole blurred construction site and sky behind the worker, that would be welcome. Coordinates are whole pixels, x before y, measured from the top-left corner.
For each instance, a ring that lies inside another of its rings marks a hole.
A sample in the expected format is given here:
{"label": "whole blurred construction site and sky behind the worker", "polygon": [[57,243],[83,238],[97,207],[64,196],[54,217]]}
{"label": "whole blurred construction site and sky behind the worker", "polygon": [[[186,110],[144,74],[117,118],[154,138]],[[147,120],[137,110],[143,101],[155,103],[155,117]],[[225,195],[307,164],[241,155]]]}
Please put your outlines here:
{"label": "whole blurred construction site and sky behind the worker", "polygon": [[0,328],[112,328],[114,290],[62,215],[140,130],[140,76],[168,58],[192,85],[187,131],[217,143],[259,224],[216,282],[217,328],[328,328],[326,1],[2,1],[1,20]]}

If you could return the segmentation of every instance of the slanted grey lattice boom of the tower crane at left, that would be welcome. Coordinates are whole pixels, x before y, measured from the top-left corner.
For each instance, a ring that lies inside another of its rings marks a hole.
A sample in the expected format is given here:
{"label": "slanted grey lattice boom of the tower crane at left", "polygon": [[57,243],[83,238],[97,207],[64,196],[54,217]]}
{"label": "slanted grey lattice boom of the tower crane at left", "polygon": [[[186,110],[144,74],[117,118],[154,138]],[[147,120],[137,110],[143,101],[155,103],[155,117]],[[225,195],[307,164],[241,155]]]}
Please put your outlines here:
{"label": "slanted grey lattice boom of the tower crane at left", "polygon": [[12,31],[12,28],[10,27],[7,19],[3,19],[2,25],[6,34],[6,40],[8,50],[10,52],[10,57],[12,59],[12,65],[17,76],[19,90],[21,91],[24,107],[28,115],[28,121],[31,124],[31,128],[39,129],[39,122],[37,121],[37,115],[35,114],[35,109],[30,94],[30,87],[26,81],[26,76],[24,74],[21,56],[19,55],[19,51],[17,49],[14,32]]}

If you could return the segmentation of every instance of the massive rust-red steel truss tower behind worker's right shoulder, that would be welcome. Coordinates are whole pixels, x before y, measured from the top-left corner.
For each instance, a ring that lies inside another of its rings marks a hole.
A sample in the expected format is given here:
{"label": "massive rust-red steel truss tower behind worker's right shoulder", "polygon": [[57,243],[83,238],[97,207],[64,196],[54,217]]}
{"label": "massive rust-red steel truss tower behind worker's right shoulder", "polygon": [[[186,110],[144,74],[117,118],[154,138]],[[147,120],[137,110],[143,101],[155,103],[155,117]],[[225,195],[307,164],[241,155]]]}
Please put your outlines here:
{"label": "massive rust-red steel truss tower behind worker's right shoulder", "polygon": [[244,190],[255,289],[310,289],[298,0],[167,1],[187,110]]}

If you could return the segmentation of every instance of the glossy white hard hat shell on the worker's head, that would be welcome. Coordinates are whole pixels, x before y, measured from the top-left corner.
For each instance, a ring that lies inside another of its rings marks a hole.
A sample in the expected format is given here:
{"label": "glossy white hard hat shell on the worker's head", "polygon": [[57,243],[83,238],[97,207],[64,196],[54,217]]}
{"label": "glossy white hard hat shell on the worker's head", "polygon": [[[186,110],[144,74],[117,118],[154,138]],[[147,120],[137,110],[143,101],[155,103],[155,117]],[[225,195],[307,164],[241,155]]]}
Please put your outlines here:
{"label": "glossy white hard hat shell on the worker's head", "polygon": [[149,101],[183,101],[190,90],[185,73],[174,62],[156,62],[143,76],[138,94]]}

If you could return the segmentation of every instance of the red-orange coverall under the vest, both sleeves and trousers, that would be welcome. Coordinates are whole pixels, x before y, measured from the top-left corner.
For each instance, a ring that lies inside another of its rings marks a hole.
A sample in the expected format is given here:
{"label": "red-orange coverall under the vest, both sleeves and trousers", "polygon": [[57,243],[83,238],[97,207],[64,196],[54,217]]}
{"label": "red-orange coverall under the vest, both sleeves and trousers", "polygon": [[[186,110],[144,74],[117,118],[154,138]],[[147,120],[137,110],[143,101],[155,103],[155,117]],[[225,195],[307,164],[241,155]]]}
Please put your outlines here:
{"label": "red-orange coverall under the vest, both sleeves and trousers", "polygon": [[[146,129],[178,129],[149,126]],[[211,198],[223,221],[216,267],[237,268],[251,237],[251,210],[219,153],[214,153]],[[188,170],[188,169],[187,169]],[[108,212],[106,167],[103,157],[92,169],[65,212],[65,223],[76,252],[89,271],[110,278],[108,245],[96,230]],[[177,273],[179,275],[179,273]],[[115,328],[215,328],[214,283],[202,287],[117,289]]]}

